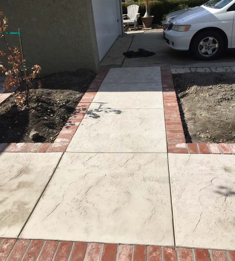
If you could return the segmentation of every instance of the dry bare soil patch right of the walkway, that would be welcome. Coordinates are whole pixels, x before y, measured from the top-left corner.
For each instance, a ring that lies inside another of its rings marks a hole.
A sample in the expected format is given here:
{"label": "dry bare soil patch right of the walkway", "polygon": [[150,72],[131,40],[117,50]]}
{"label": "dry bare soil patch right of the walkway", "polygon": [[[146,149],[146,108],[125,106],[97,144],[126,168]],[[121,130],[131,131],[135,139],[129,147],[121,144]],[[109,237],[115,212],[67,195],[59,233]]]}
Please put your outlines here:
{"label": "dry bare soil patch right of the walkway", "polygon": [[173,75],[187,142],[235,143],[235,73]]}

